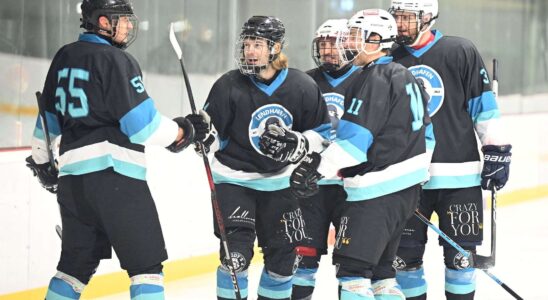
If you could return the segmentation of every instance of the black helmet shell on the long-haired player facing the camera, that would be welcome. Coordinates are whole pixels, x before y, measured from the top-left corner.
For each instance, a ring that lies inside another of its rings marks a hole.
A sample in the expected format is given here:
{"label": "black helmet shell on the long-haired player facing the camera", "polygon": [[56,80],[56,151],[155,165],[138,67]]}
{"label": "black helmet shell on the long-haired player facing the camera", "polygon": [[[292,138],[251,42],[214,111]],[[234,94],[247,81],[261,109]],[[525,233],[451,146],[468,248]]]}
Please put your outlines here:
{"label": "black helmet shell on the long-haired player facing the camera", "polygon": [[253,16],[242,27],[240,36],[243,35],[283,43],[285,27],[282,21],[276,17]]}

